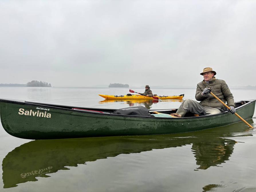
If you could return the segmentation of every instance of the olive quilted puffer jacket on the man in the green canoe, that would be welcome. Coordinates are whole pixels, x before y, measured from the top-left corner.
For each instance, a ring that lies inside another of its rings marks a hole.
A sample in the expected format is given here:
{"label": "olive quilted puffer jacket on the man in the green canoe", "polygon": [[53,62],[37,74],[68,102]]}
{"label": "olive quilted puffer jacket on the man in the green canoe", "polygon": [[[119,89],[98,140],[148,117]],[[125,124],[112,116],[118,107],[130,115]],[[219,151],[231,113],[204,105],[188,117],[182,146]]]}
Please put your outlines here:
{"label": "olive quilted puffer jacket on the man in the green canoe", "polygon": [[227,101],[227,105],[235,107],[234,97],[229,90],[228,85],[224,80],[216,79],[215,77],[206,83],[204,80],[197,84],[196,87],[196,100],[201,101],[200,104],[202,106],[208,106],[213,108],[221,108],[225,109],[225,106],[219,102],[216,98],[214,98],[210,93],[202,96],[202,92],[204,88],[211,88],[211,92],[216,95],[220,100],[224,103]]}

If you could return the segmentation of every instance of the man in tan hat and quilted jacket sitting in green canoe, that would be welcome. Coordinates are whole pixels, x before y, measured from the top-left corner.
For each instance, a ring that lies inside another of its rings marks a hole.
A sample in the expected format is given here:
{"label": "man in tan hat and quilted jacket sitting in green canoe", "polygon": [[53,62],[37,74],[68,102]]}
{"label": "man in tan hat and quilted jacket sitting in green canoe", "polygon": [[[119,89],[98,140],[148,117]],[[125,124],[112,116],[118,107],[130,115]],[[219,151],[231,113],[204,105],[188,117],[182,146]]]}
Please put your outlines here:
{"label": "man in tan hat and quilted jacket sitting in green canoe", "polygon": [[230,107],[230,112],[234,114],[235,102],[228,85],[224,80],[216,79],[216,72],[210,67],[204,68],[200,73],[204,77],[204,80],[199,82],[196,87],[196,100],[200,103],[186,99],[182,102],[176,113],[171,115],[176,117],[184,117],[187,112],[191,112],[198,115],[210,115],[224,112],[225,106],[214,98],[210,92],[214,93],[224,103],[227,101],[227,105]]}

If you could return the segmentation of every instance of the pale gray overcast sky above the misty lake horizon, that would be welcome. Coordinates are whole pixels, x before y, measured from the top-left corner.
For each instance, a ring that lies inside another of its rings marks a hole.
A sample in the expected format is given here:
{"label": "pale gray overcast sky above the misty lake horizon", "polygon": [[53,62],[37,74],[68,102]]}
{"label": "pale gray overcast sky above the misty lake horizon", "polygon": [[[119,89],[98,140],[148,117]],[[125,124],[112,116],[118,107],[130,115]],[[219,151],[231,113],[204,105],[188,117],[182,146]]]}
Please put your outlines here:
{"label": "pale gray overcast sky above the misty lake horizon", "polygon": [[0,83],[255,86],[256,1],[1,0]]}

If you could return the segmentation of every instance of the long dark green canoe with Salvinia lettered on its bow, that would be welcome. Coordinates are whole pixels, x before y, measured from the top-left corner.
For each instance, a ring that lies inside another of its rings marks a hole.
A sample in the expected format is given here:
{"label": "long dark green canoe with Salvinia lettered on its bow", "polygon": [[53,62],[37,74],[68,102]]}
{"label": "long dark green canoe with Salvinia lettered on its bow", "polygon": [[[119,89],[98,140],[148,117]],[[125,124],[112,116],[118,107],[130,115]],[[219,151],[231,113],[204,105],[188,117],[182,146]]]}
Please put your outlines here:
{"label": "long dark green canoe with Salvinia lettered on its bow", "polygon": [[[256,100],[236,102],[243,119],[253,117]],[[5,131],[25,139],[150,135],[198,131],[241,121],[229,112],[207,116],[188,113],[183,118],[112,114],[115,109],[82,108],[0,99]],[[152,113],[155,110],[150,110]],[[157,110],[170,114],[175,109]]]}

